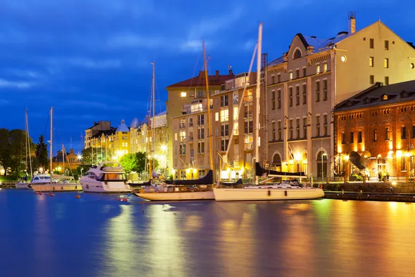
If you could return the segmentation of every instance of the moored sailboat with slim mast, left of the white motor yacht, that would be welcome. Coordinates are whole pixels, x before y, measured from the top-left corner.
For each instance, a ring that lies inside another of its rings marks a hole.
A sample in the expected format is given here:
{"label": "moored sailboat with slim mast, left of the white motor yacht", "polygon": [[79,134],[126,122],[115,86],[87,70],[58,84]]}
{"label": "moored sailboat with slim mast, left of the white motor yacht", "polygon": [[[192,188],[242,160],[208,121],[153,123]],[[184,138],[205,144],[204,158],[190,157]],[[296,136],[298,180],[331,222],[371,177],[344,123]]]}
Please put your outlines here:
{"label": "moored sailboat with slim mast, left of the white motor yacht", "polygon": [[[82,186],[77,183],[68,182],[67,180],[73,180],[71,176],[54,175],[52,168],[53,161],[53,107],[50,107],[50,149],[49,149],[49,160],[50,160],[50,175],[33,175],[32,181],[30,181],[30,187],[35,192],[42,191],[75,191],[82,190]],[[58,181],[63,180],[63,181]]]}

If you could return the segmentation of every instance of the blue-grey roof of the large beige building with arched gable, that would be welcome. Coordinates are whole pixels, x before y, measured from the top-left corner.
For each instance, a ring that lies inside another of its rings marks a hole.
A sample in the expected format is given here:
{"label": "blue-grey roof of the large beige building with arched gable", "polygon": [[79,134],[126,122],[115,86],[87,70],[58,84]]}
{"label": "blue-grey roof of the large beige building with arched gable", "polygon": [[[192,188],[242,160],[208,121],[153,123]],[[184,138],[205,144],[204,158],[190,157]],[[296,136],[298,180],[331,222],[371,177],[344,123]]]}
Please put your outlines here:
{"label": "blue-grey roof of the large beige building with arched gable", "polygon": [[[295,37],[298,37],[302,44],[304,44],[304,48],[308,46],[314,47],[313,53],[319,53],[322,51],[326,51],[329,48],[335,46],[336,43],[341,42],[343,39],[349,37],[349,33],[347,32],[340,32],[336,37],[331,37],[329,39],[320,39],[314,36],[308,37],[306,35],[302,35],[298,33]],[[268,63],[268,66],[274,66],[277,64],[282,64],[284,62],[284,56],[278,57],[277,59]]]}

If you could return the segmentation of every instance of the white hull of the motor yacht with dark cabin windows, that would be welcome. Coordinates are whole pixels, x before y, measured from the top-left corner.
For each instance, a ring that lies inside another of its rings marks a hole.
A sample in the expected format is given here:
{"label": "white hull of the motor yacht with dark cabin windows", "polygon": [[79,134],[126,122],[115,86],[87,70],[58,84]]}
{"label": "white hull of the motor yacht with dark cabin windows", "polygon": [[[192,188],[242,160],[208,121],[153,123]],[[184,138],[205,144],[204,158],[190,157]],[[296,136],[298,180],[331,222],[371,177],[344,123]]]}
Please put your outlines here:
{"label": "white hull of the motor yacht with dark cabin windows", "polygon": [[131,193],[129,184],[125,184],[124,181],[93,181],[84,177],[80,180],[82,190],[85,193]]}

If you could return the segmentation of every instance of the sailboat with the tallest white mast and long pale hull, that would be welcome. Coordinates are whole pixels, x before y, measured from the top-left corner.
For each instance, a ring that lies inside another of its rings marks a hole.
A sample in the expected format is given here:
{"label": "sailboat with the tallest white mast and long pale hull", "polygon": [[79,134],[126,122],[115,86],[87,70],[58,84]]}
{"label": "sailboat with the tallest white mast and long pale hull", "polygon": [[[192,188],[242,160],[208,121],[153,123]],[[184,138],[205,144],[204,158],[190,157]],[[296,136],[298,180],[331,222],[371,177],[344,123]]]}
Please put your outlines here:
{"label": "sailboat with the tallest white mast and long pale hull", "polygon": [[[258,48],[257,48],[257,91],[256,102],[260,100],[261,82],[261,43],[262,23],[259,24]],[[258,104],[257,104],[258,105]],[[255,115],[255,157],[259,157],[259,108]],[[259,184],[259,177],[283,177],[287,180],[282,184]],[[288,180],[288,178],[292,178]],[[255,186],[244,188],[214,188],[216,201],[254,201],[254,200],[293,200],[293,199],[317,199],[324,196],[321,188],[305,188],[297,179],[306,178],[304,172],[277,172],[264,170],[258,162],[255,163]]]}

